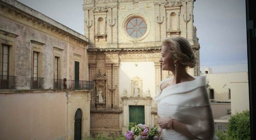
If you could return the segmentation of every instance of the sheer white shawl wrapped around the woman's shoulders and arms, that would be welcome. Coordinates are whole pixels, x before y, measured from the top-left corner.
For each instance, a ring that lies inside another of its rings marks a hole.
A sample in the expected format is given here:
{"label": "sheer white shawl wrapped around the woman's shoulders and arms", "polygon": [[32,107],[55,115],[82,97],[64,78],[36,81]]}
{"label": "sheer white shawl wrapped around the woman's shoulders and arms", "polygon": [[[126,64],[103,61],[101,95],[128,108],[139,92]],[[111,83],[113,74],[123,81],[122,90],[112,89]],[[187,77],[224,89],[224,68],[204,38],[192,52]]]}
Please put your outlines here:
{"label": "sheer white shawl wrapped around the woman's shoulders and arms", "polygon": [[159,84],[155,101],[158,115],[173,118],[186,124],[188,131],[202,140],[217,140],[214,134],[214,120],[206,90],[206,76],[194,77],[192,81],[166,87],[160,94]]}

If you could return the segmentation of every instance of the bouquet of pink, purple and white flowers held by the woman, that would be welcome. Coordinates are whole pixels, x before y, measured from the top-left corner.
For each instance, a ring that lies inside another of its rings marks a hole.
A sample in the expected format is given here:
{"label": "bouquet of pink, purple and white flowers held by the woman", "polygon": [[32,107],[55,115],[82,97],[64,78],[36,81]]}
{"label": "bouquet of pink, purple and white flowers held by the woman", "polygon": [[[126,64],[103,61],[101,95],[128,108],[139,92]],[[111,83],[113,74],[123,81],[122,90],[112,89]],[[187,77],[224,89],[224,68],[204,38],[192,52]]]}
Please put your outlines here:
{"label": "bouquet of pink, purple and white flowers held by the woman", "polygon": [[146,126],[129,123],[128,132],[124,134],[127,140],[159,140],[159,131],[156,125]]}

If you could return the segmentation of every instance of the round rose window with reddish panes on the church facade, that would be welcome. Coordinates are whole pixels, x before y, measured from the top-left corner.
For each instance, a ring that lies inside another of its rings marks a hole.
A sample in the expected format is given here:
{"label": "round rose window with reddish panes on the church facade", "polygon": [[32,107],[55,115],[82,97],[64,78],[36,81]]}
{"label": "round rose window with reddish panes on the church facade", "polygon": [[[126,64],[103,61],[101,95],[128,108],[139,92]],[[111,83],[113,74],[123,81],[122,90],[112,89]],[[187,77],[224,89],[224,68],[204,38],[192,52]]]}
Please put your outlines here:
{"label": "round rose window with reddish panes on the church facade", "polygon": [[130,19],[126,25],[126,32],[132,38],[139,38],[147,31],[147,24],[145,20],[139,17]]}

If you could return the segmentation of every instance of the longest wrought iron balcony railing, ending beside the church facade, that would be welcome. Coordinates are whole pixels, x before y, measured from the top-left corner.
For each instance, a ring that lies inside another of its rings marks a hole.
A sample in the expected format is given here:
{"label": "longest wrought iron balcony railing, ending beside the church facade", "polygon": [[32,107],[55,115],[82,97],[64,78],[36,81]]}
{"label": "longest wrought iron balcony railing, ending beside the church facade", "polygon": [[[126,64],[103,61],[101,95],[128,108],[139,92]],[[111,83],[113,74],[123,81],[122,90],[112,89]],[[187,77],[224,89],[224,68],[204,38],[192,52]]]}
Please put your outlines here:
{"label": "longest wrought iron balcony railing, ending beside the church facade", "polygon": [[94,81],[53,79],[53,89],[94,89]]}

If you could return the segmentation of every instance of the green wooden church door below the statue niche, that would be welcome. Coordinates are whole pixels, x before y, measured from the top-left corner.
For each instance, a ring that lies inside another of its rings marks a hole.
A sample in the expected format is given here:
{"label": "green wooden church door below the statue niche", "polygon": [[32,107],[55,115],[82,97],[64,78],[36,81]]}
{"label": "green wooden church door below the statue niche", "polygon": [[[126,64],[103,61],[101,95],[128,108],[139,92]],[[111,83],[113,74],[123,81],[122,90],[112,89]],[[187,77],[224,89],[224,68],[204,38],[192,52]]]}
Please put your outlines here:
{"label": "green wooden church door below the statue niche", "polygon": [[144,106],[129,106],[129,122],[136,122],[136,124],[145,124]]}

